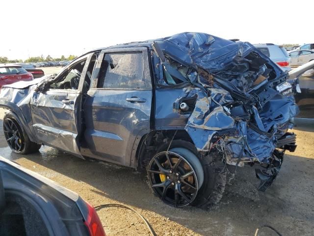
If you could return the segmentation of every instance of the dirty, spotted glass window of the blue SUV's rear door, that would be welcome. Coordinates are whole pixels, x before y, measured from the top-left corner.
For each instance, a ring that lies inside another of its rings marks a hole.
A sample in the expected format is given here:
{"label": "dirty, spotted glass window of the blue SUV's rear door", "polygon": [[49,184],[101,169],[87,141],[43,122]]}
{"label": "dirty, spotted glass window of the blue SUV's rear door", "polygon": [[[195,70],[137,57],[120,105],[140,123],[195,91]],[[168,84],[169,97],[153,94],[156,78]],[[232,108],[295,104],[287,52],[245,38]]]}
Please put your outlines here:
{"label": "dirty, spotted glass window of the blue SUV's rear door", "polygon": [[143,53],[105,54],[97,88],[145,89]]}

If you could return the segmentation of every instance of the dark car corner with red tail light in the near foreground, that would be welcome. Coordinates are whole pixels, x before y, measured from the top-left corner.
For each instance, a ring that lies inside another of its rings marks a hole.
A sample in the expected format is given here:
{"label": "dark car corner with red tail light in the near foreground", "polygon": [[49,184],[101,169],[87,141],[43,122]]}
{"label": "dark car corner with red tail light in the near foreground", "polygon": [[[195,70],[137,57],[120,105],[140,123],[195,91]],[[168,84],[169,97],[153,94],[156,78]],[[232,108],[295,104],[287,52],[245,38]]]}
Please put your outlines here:
{"label": "dark car corner with red tail light in the near foreground", "polygon": [[1,236],[105,236],[77,193],[0,156]]}

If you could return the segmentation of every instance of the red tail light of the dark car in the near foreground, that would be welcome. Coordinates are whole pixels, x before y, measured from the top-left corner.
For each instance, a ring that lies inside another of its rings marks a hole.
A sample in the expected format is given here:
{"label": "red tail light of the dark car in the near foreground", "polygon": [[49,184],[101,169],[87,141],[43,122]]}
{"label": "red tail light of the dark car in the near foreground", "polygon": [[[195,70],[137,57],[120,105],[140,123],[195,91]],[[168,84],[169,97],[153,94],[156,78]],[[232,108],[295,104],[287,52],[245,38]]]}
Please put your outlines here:
{"label": "red tail light of the dark car in the near foreground", "polygon": [[88,215],[84,224],[87,226],[90,236],[106,236],[102,222],[100,221],[95,208],[88,203],[86,204],[88,208]]}

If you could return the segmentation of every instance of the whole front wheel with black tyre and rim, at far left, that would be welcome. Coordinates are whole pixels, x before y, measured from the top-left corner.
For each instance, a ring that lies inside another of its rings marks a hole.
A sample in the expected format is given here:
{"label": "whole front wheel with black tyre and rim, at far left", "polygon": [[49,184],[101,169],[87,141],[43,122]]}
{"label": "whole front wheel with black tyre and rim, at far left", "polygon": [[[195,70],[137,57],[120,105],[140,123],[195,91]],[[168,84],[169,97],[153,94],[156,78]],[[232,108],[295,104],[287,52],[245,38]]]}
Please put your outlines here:
{"label": "whole front wheel with black tyre and rim, at far left", "polygon": [[8,146],[13,152],[19,154],[37,152],[41,145],[30,141],[18,120],[11,111],[7,112],[3,118],[3,132]]}

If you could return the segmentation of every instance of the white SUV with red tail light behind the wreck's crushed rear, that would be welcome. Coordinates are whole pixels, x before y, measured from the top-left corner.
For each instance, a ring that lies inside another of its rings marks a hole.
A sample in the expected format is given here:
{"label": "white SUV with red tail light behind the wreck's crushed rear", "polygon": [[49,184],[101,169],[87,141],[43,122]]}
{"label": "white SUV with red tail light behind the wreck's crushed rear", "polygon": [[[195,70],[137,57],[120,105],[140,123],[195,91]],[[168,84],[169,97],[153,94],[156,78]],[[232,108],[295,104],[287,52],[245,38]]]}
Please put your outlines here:
{"label": "white SUV with red tail light behind the wreck's crushed rear", "polygon": [[290,57],[284,47],[273,43],[260,43],[253,45],[272,61],[276,62],[276,64],[278,64],[283,71],[291,70]]}

